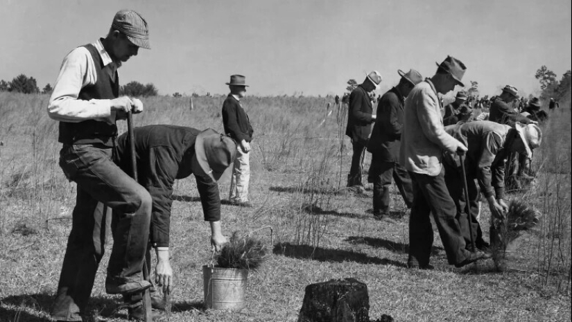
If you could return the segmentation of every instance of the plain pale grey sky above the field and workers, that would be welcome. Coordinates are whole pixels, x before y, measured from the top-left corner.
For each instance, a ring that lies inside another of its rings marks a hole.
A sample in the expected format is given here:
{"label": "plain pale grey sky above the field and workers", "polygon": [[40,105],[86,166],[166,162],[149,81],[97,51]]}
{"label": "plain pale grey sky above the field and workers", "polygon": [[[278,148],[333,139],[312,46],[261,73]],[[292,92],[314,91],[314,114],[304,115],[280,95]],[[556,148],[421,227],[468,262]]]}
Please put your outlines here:
{"label": "plain pale grey sky above the field and workers", "polygon": [[380,91],[397,69],[435,73],[447,55],[467,65],[466,84],[499,93],[512,84],[537,91],[543,64],[571,69],[570,0],[0,0],[0,79],[55,81],[64,56],[109,30],[117,10],[137,10],[150,27],[120,69],[122,84],[153,82],[159,93],[226,93],[229,75],[246,76],[251,94],[343,93],[376,69]]}

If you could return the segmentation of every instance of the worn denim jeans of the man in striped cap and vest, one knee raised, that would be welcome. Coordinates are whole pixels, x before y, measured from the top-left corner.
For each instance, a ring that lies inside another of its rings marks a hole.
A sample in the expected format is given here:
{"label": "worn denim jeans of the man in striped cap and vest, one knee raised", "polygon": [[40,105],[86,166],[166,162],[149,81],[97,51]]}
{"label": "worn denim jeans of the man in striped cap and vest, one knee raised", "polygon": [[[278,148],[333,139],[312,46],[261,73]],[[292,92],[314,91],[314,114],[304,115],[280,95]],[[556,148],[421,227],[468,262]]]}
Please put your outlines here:
{"label": "worn denim jeans of the man in striped cap and vest, one knee raised", "polygon": [[78,193],[51,314],[55,320],[81,321],[110,225],[114,244],[107,278],[119,285],[141,281],[152,201],[147,190],[115,165],[111,148],[64,145],[60,167],[76,182]]}

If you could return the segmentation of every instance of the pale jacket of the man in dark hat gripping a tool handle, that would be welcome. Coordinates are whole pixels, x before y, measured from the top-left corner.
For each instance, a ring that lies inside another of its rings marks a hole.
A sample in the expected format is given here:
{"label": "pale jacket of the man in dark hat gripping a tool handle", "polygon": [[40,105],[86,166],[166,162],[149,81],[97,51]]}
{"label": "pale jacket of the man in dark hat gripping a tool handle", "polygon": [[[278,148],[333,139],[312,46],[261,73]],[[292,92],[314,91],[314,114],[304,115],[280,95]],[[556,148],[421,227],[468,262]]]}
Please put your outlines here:
{"label": "pale jacket of the man in dark hat gripping a tool handle", "polygon": [[435,177],[442,151],[456,152],[458,141],[445,132],[441,101],[429,78],[415,85],[405,100],[400,163],[408,171]]}

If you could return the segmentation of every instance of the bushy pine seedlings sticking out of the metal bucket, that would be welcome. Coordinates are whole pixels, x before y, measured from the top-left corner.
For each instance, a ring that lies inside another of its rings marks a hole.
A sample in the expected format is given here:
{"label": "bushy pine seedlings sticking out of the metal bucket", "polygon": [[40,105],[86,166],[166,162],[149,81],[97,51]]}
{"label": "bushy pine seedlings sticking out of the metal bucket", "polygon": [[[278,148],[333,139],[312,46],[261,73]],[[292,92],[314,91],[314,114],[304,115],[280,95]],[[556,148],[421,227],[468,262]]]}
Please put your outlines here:
{"label": "bushy pine seedlings sticking out of the metal bucket", "polygon": [[268,257],[268,247],[260,238],[235,231],[216,256],[216,266],[230,269],[258,269]]}

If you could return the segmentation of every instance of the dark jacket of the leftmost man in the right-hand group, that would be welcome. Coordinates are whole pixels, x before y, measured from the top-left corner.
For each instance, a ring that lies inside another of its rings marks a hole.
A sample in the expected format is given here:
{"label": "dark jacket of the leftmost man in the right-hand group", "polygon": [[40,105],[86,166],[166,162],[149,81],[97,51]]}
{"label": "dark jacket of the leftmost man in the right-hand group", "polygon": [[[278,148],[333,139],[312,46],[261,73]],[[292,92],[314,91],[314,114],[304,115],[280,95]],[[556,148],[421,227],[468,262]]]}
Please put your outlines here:
{"label": "dark jacket of the leftmost man in the right-hand group", "polygon": [[372,111],[370,95],[359,85],[349,94],[345,135],[365,145],[372,132]]}

